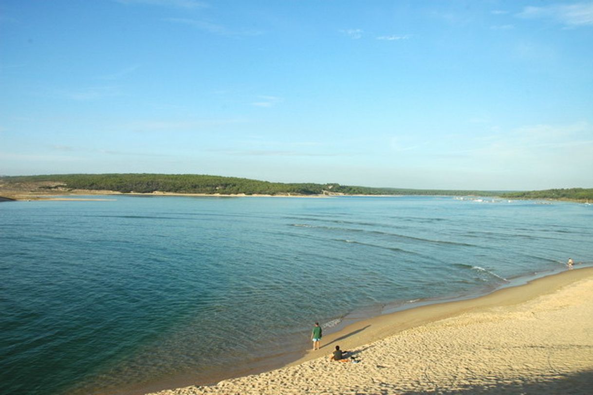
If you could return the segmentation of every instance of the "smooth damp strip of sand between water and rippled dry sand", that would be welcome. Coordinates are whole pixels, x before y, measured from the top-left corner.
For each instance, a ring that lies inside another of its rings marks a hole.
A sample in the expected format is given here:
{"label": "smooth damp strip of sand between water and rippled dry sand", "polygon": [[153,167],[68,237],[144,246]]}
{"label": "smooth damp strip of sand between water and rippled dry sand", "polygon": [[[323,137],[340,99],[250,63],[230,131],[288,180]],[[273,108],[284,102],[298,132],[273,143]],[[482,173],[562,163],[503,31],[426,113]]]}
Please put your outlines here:
{"label": "smooth damp strip of sand between water and rippled dry sand", "polygon": [[[146,383],[142,386],[135,386],[126,391],[118,393],[126,394],[202,394],[216,393],[219,384],[229,381],[257,380],[262,375],[273,375],[282,369],[299,368],[304,364],[318,363],[320,357],[325,357],[339,343],[340,348],[352,350],[360,349],[369,343],[381,342],[388,337],[399,335],[408,330],[422,328],[427,325],[438,323],[443,320],[455,319],[455,317],[464,316],[464,314],[476,314],[493,308],[516,307],[529,301],[552,295],[559,289],[570,286],[583,279],[593,281],[593,267],[582,267],[574,270],[565,270],[560,273],[549,274],[540,278],[531,279],[527,283],[507,286],[496,289],[486,295],[481,295],[463,300],[452,300],[435,302],[428,305],[407,308],[406,310],[395,311],[393,313],[382,314],[362,320],[353,320],[351,323],[345,323],[342,329],[329,333],[323,337],[321,350],[311,352],[302,350],[301,352],[292,352],[287,355],[270,356],[254,359],[255,364],[242,365],[233,369],[231,375],[226,377],[214,375],[211,380],[200,380],[200,384],[191,385],[189,377],[177,377],[167,381],[158,381],[155,383]],[[307,344],[308,346],[308,344]],[[295,359],[296,358],[296,359]],[[247,362],[247,361],[246,361]],[[253,361],[250,361],[253,362]],[[325,361],[324,361],[325,362]],[[593,366],[593,365],[592,365]],[[230,377],[229,377],[230,376]],[[222,380],[222,381],[221,381]],[[186,387],[190,386],[190,387]],[[197,386],[197,387],[196,387]],[[177,388],[176,390],[164,390],[163,388]],[[199,388],[199,390],[197,390]],[[153,392],[149,392],[153,391]],[[160,392],[157,392],[160,391]],[[247,391],[248,392],[248,391]]]}

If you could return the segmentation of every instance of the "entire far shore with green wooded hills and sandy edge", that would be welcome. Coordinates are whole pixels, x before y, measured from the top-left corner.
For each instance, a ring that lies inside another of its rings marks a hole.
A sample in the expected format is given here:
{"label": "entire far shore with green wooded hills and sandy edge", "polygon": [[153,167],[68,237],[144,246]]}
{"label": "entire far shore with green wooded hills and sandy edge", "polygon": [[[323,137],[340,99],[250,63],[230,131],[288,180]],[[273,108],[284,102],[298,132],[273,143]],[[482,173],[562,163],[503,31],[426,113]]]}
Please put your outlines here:
{"label": "entire far shore with green wooded hills and sandy edge", "polygon": [[[180,192],[183,191],[183,192]],[[4,200],[49,200],[59,195],[161,195],[308,197],[327,196],[476,196],[499,199],[566,200],[590,204],[593,189],[504,190],[408,189],[338,183],[278,183],[207,174],[46,174],[0,176]]]}

